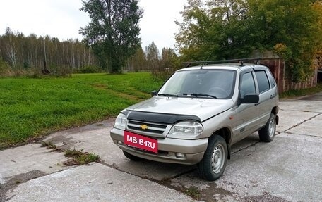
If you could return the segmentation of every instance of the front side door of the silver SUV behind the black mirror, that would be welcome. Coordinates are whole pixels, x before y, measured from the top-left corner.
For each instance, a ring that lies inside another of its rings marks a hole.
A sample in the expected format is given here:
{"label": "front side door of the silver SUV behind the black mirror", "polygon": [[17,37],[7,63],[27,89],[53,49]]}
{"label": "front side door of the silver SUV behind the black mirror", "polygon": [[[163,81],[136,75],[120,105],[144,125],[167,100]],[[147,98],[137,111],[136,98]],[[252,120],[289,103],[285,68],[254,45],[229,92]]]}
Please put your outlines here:
{"label": "front side door of the silver SUV behind the black mirror", "polygon": [[[256,82],[254,71],[241,73],[239,83],[239,98],[246,94],[256,94]],[[258,103],[241,103],[237,106],[237,134],[234,142],[244,139],[247,135],[256,131],[258,125]]]}

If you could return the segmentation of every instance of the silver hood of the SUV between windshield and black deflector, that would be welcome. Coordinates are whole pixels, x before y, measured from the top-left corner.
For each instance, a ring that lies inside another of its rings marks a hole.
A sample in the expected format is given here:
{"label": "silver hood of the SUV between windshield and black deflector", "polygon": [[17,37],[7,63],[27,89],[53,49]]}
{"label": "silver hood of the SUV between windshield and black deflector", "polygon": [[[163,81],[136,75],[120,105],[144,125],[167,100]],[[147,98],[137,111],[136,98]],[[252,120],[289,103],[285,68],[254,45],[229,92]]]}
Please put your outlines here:
{"label": "silver hood of the SUV between windshield and black deflector", "polygon": [[201,121],[207,120],[234,106],[232,99],[201,99],[191,97],[162,97],[154,96],[151,99],[137,103],[128,111],[147,113],[167,113],[175,115],[195,115]]}

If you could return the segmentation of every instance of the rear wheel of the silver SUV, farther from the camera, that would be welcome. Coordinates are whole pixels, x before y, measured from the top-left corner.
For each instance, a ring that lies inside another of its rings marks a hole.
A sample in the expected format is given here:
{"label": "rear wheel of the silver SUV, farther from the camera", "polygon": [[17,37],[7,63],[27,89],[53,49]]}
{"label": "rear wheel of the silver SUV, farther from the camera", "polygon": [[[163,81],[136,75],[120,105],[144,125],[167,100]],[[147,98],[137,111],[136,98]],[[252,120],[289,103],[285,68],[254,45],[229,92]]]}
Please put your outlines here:
{"label": "rear wheel of the silver SUV, farther from the camera", "polygon": [[276,132],[276,118],[275,114],[270,113],[270,118],[266,122],[266,125],[258,130],[259,139],[261,141],[270,142],[273,141]]}

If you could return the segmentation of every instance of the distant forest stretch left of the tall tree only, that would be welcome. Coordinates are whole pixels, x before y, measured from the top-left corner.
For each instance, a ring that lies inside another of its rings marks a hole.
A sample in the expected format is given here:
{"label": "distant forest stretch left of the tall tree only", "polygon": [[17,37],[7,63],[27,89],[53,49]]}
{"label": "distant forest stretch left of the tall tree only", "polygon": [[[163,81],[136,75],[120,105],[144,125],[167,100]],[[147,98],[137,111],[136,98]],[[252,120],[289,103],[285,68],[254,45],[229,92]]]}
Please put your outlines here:
{"label": "distant forest stretch left of the tall tree only", "polygon": [[0,36],[0,70],[2,72],[77,72],[97,66],[90,47],[78,39],[59,41],[55,37],[25,36],[7,27]]}

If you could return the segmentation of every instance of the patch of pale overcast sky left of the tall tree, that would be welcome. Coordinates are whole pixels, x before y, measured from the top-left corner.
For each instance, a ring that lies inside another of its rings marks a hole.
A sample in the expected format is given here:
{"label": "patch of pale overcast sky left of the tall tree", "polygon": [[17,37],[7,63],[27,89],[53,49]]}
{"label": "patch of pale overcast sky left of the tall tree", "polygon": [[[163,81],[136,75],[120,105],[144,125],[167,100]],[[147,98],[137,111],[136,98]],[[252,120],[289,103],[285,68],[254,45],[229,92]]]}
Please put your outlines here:
{"label": "patch of pale overcast sky left of the tall tree", "polygon": [[88,17],[79,11],[81,0],[10,0],[0,1],[0,33],[6,27],[13,31],[38,36],[49,35],[59,39],[81,38],[78,30],[88,23]]}

